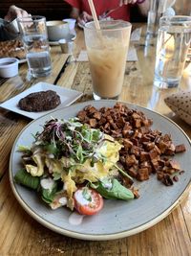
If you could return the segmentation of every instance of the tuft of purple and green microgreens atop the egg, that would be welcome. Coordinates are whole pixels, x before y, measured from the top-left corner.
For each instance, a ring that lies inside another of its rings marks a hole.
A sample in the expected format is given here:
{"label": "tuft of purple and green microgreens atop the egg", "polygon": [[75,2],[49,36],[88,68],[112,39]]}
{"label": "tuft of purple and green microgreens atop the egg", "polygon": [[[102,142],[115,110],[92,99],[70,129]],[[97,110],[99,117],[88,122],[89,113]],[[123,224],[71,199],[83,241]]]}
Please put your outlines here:
{"label": "tuft of purple and green microgreens atop the egg", "polygon": [[41,133],[36,133],[34,145],[43,147],[57,158],[66,156],[74,158],[78,163],[90,159],[103,139],[104,134],[77,122],[77,119],[47,122]]}

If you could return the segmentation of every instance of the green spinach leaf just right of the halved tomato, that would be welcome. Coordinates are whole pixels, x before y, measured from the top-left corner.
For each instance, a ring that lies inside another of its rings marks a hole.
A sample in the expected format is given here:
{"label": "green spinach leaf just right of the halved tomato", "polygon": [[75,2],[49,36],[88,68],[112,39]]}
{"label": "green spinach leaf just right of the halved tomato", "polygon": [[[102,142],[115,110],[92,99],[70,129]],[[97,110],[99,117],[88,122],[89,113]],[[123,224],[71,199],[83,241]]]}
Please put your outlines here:
{"label": "green spinach leaf just right of the halved tomato", "polygon": [[134,194],[131,190],[122,186],[116,178],[112,180],[112,188],[107,188],[106,184],[98,181],[96,184],[91,184],[91,187],[95,188],[96,191],[107,199],[123,199],[129,200],[134,198]]}

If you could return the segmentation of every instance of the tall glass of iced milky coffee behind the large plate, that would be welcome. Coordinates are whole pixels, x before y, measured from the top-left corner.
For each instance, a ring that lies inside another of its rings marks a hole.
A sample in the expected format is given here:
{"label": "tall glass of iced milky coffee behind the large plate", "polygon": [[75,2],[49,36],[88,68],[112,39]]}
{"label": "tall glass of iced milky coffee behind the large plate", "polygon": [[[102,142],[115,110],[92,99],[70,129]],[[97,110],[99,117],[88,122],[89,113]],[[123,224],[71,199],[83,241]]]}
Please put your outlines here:
{"label": "tall glass of iced milky coffee behind the large plate", "polygon": [[122,20],[86,23],[85,42],[95,100],[117,99],[121,93],[132,25]]}

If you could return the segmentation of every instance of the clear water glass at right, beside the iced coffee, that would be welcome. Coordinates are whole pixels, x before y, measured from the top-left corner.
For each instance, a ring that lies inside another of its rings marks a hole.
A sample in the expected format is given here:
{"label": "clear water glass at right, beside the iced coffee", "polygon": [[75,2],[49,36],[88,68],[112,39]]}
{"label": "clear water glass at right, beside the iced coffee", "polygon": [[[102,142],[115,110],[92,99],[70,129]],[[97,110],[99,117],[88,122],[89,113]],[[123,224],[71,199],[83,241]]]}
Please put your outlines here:
{"label": "clear water glass at right, beside the iced coffee", "polygon": [[191,16],[161,17],[156,52],[154,84],[177,87],[191,42]]}

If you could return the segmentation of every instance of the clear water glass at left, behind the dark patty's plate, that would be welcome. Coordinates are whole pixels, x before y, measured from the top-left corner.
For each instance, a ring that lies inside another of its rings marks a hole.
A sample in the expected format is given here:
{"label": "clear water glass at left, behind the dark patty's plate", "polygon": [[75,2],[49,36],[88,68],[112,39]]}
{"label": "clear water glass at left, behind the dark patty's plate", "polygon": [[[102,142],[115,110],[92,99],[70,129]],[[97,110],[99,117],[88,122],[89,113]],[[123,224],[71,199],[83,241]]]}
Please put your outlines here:
{"label": "clear water glass at left, behind the dark patty's plate", "polygon": [[50,75],[52,66],[46,18],[43,16],[19,18],[18,26],[32,77],[38,78]]}

